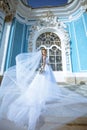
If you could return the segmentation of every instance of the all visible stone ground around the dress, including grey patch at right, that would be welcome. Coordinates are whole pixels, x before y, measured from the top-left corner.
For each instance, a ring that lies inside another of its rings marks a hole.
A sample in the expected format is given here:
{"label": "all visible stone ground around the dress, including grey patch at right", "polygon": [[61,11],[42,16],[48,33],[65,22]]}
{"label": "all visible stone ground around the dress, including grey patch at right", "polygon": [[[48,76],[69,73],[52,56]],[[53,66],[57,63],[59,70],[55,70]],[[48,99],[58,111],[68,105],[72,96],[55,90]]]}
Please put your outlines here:
{"label": "all visible stone ground around the dress, including grey patch at right", "polygon": [[[68,89],[72,91],[76,91],[77,93],[82,94],[83,96],[87,96],[87,85],[65,85]],[[40,123],[38,123],[36,130],[87,130],[87,117],[81,117],[73,122],[70,122],[67,125],[62,127],[58,126],[58,120],[60,120],[57,116],[45,116],[44,118],[40,118]],[[63,118],[66,120],[66,118]],[[27,130],[26,128],[21,128],[16,126],[13,122],[8,120],[0,121],[0,130]]]}

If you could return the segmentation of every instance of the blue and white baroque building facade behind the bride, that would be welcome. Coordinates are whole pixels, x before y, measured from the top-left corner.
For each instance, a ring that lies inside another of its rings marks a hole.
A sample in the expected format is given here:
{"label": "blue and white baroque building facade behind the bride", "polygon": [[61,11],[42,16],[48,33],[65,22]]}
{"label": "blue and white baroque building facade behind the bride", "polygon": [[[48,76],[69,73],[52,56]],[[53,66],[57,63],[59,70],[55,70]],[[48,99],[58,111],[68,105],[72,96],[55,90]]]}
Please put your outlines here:
{"label": "blue and white baroque building facade behind the bride", "polygon": [[44,47],[57,82],[87,82],[86,0],[44,8],[31,8],[23,0],[0,4],[1,76],[16,64],[17,54]]}

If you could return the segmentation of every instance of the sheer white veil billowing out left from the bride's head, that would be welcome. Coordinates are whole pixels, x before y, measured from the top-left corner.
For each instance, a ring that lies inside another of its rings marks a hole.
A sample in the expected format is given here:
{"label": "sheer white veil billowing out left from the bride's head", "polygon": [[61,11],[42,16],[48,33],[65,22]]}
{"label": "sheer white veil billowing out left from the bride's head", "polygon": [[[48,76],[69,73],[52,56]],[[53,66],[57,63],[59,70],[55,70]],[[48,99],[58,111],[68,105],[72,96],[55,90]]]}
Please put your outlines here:
{"label": "sheer white veil billowing out left from the bride's head", "polygon": [[[0,96],[8,93],[9,89],[12,89],[13,91],[23,91],[23,89],[26,89],[26,87],[29,86],[29,82],[36,74],[36,70],[39,67],[40,60],[41,51],[33,53],[21,53],[17,55],[16,65],[10,67],[4,73],[0,88]],[[13,83],[15,84],[15,87],[12,87]]]}

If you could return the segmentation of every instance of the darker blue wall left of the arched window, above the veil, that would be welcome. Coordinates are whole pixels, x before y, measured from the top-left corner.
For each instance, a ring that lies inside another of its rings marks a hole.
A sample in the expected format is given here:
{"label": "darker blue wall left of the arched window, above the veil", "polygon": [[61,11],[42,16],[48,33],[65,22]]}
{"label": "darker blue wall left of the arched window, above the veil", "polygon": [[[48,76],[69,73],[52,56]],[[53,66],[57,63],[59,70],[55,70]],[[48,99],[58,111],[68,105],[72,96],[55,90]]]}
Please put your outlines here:
{"label": "darker blue wall left of the arched window, above the veil", "polygon": [[17,54],[26,51],[26,29],[25,24],[14,18],[9,36],[5,70],[16,64],[15,57]]}

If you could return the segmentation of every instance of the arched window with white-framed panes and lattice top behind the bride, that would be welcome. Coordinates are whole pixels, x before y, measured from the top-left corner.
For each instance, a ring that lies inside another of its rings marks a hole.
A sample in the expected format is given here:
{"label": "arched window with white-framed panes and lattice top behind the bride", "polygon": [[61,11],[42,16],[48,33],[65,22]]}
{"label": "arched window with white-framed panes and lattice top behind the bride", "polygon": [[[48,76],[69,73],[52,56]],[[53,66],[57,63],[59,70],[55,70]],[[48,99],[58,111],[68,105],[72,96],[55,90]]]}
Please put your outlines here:
{"label": "arched window with white-framed panes and lattice top behind the bride", "polygon": [[62,48],[58,35],[53,32],[42,33],[36,40],[36,49],[43,47],[47,49],[53,71],[62,71]]}

